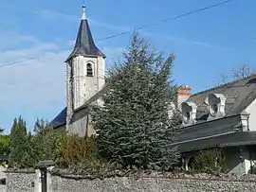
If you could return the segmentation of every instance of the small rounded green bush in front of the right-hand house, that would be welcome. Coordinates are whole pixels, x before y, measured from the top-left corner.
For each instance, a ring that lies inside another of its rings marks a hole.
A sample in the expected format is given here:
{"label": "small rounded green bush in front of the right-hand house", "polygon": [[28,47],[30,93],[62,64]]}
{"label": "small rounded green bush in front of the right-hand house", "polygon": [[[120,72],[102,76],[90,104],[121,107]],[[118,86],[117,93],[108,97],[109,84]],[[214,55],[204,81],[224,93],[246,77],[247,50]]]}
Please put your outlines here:
{"label": "small rounded green bush in front of the right-hand house", "polygon": [[219,174],[225,169],[225,156],[220,149],[201,151],[192,162],[192,170],[196,173]]}

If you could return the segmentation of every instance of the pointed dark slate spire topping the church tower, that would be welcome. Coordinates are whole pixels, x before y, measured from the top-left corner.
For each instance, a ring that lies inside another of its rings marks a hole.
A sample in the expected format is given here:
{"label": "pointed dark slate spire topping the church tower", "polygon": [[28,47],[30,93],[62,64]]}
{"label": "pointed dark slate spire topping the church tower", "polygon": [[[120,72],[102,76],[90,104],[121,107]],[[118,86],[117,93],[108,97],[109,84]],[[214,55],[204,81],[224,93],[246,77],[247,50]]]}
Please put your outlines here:
{"label": "pointed dark slate spire topping the church tower", "polygon": [[72,53],[68,56],[66,61],[69,61],[75,56],[88,56],[88,57],[103,57],[105,55],[94,44],[92,33],[86,19],[85,6],[82,6],[82,19],[79,27],[79,32],[76,40],[75,47]]}

